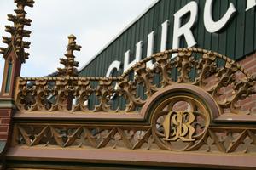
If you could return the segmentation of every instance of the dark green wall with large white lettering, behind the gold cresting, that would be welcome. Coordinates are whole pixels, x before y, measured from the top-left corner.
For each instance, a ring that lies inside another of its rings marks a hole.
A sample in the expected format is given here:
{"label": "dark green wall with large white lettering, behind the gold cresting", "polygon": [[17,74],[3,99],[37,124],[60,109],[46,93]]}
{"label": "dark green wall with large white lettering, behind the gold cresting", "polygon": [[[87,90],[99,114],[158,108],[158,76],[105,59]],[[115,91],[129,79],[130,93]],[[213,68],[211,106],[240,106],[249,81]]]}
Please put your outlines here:
{"label": "dark green wall with large white lettering, behind the gold cresting", "polygon": [[137,61],[175,48],[204,48],[240,61],[256,48],[254,5],[239,0],[156,1],[79,74],[108,77],[115,68],[121,75]]}

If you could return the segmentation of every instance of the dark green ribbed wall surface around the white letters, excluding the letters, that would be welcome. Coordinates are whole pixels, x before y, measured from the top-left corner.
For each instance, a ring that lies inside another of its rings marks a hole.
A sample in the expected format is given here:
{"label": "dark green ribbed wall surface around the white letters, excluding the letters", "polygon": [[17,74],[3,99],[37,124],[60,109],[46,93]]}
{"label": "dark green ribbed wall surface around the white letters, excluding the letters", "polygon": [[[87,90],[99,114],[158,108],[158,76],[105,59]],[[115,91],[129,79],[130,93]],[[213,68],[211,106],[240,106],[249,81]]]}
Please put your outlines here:
{"label": "dark green ribbed wall surface around the white letters, excluding the letters", "polygon": [[[113,60],[124,62],[124,54],[131,50],[131,59],[134,59],[136,43],[143,41],[143,58],[147,54],[148,33],[155,31],[154,53],[160,51],[161,24],[169,20],[167,48],[172,48],[173,14],[191,0],[160,0],[153,8],[150,8],[137,22],[130,26],[122,35],[113,41],[108,48],[96,56],[83,70],[80,76],[105,76],[108,66]],[[215,0],[212,10],[214,20],[219,20],[229,7],[229,3],[236,6],[236,16],[230,23],[220,31],[211,34],[206,31],[203,24],[204,0],[195,0],[199,5],[198,21],[193,28],[193,33],[198,48],[206,48],[225,54],[232,59],[241,59],[244,55],[250,54],[256,49],[256,12],[255,9],[248,10],[246,0]],[[185,23],[188,20],[183,19]],[[181,41],[181,48],[186,47],[184,39]],[[117,74],[123,72],[123,67]]]}

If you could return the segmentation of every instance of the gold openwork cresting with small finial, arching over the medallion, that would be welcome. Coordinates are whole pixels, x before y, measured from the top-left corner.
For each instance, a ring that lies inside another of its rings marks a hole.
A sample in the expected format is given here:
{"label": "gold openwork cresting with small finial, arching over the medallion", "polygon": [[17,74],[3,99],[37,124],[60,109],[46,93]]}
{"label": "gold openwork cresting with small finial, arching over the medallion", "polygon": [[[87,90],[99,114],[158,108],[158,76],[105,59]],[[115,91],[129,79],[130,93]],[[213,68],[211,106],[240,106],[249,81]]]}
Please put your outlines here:
{"label": "gold openwork cresting with small finial, arching over the medallion", "polygon": [[[161,88],[185,83],[211,95],[221,113],[253,114],[242,111],[240,100],[256,93],[256,77],[224,55],[200,48],[172,49],[141,60],[120,77],[74,77],[72,51],[79,47],[73,38],[70,41],[68,59],[61,60],[66,66],[61,72],[69,77],[18,79],[16,105],[21,112],[138,112]],[[173,54],[175,59],[171,59]],[[146,67],[149,60],[155,61],[153,69]],[[67,94],[76,101],[73,107],[67,108]]]}

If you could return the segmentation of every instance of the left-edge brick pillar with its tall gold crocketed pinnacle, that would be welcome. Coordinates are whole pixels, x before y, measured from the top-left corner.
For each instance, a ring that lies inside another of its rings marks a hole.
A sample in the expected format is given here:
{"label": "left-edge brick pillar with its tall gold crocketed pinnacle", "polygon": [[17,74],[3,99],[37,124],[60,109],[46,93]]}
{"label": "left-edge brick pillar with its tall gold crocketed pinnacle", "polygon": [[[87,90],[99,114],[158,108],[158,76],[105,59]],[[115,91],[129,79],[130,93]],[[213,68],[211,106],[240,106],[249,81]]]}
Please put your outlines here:
{"label": "left-edge brick pillar with its tall gold crocketed pinnacle", "polygon": [[25,7],[33,7],[33,0],[15,0],[17,8],[15,15],[8,14],[8,20],[13,26],[5,26],[5,31],[10,37],[3,37],[3,43],[7,48],[0,48],[3,54],[4,69],[3,82],[0,92],[0,167],[3,168],[4,153],[7,149],[9,132],[11,131],[12,115],[15,113],[15,80],[20,76],[22,63],[28,59],[25,48],[29,48],[30,42],[23,41],[23,37],[30,37],[31,31],[24,26],[31,26],[32,20],[26,19]]}

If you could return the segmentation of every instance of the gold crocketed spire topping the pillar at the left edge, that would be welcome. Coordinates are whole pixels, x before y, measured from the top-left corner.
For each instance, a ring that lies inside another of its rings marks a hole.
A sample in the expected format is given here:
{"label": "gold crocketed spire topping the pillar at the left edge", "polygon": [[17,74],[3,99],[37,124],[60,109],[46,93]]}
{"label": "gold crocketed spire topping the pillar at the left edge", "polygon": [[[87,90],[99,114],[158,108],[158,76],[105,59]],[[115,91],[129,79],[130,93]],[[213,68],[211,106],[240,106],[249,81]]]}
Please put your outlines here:
{"label": "gold crocketed spire topping the pillar at the left edge", "polygon": [[20,57],[22,63],[28,59],[28,53],[25,52],[25,48],[29,48],[30,42],[23,41],[23,37],[30,37],[31,31],[24,29],[24,26],[31,26],[32,20],[26,19],[26,6],[33,7],[33,0],[15,0],[17,3],[17,9],[15,9],[16,15],[8,14],[8,20],[14,23],[14,26],[5,26],[5,31],[11,34],[11,37],[3,37],[3,43],[8,45],[8,48],[0,48],[0,53],[3,54],[5,59],[8,50],[11,46],[15,48],[15,53]]}

